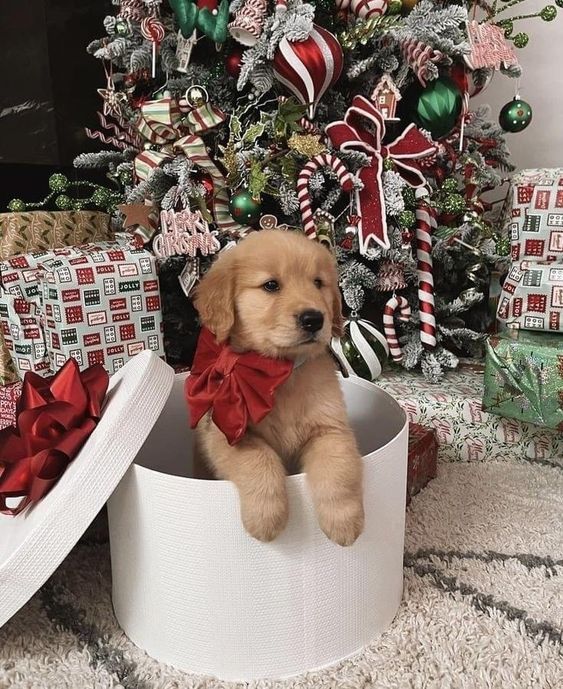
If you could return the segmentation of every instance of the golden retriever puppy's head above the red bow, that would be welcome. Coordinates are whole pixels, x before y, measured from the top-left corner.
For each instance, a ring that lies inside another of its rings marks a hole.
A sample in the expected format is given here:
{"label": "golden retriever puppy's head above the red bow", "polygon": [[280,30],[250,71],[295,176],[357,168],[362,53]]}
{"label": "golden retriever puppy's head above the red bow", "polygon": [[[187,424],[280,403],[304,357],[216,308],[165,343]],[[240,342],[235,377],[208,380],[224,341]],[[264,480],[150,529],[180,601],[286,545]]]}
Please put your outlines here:
{"label": "golden retriever puppy's head above the red bow", "polygon": [[342,329],[334,258],[298,232],[250,234],[213,264],[194,303],[220,342],[265,356],[316,355]]}

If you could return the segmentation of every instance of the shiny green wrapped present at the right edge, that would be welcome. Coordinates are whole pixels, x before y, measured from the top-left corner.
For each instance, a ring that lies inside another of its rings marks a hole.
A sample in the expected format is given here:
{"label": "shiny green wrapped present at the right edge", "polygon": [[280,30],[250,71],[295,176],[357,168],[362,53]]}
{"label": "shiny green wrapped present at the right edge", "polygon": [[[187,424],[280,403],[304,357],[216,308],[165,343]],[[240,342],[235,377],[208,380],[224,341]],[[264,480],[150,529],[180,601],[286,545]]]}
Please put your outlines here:
{"label": "shiny green wrapped present at the right edge", "polygon": [[489,338],[483,408],[563,431],[563,335],[516,330]]}

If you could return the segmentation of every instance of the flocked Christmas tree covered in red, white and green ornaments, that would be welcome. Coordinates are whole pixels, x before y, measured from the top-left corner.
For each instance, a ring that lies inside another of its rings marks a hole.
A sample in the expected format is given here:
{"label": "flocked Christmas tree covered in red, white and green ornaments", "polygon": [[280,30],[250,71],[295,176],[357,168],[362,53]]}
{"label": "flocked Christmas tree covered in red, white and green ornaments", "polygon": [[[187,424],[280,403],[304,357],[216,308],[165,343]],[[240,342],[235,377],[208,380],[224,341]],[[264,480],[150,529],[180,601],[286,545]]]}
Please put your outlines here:
{"label": "flocked Christmas tree covered in red, white and green ornaments", "polygon": [[117,217],[162,258],[173,361],[197,330],[178,273],[189,294],[221,248],[272,227],[335,252],[336,349],[360,375],[386,348],[432,380],[479,350],[508,253],[482,195],[532,115],[515,92],[499,126],[470,98],[520,76],[520,19],[556,16],[514,16],[522,1],[113,0],[88,47],[107,150],[76,165],[125,185]]}

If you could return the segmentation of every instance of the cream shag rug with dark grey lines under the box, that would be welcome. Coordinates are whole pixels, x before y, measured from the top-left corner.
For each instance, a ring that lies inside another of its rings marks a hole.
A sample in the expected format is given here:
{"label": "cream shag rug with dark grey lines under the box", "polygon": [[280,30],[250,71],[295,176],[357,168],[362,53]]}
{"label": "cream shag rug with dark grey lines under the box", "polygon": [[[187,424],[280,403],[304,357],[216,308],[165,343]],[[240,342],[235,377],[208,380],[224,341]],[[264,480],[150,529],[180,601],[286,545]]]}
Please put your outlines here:
{"label": "cream shag rug with dark grey lines under the box", "polygon": [[411,503],[403,604],[350,660],[250,684],[161,665],[118,628],[107,544],[90,542],[0,630],[0,687],[560,689],[562,630],[563,462],[459,462]]}

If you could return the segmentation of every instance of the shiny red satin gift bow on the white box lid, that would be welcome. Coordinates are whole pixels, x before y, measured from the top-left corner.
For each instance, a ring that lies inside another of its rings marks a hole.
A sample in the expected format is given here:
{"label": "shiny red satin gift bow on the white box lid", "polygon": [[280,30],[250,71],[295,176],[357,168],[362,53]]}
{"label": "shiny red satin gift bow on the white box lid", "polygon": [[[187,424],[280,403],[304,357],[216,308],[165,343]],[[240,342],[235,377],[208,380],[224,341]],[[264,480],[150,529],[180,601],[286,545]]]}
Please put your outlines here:
{"label": "shiny red satin gift bow on the white box lid", "polygon": [[[26,373],[16,425],[0,431],[0,513],[15,516],[44,497],[96,427],[109,383],[101,365],[69,359],[49,378]],[[7,507],[7,498],[21,498]]]}

